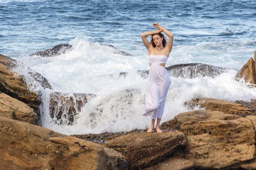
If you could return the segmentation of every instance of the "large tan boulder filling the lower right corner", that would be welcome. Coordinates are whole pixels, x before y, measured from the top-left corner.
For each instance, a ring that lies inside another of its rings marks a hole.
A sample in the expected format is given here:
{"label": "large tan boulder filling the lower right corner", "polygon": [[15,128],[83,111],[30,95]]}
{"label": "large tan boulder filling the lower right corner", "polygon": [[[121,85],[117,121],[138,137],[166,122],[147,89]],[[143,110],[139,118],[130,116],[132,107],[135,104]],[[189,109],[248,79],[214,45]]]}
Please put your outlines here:
{"label": "large tan boulder filling the lower right corner", "polygon": [[185,158],[198,168],[227,168],[254,158],[255,132],[248,118],[196,110],[174,119],[162,126],[177,128],[186,135]]}

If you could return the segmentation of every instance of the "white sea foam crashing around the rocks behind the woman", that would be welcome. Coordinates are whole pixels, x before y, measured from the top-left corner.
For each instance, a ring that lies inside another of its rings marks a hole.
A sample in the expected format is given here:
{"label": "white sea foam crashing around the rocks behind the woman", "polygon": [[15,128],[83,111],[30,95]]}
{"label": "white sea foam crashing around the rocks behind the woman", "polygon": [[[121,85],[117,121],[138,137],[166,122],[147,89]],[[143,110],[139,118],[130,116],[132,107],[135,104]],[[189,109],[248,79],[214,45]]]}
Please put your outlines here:
{"label": "white sea foam crashing around the rocks behind the woman", "polygon": [[[90,43],[83,38],[75,38],[70,44],[73,50],[55,57],[22,58],[53,87],[53,90],[41,90],[42,125],[69,135],[129,131],[150,125],[151,118],[142,116],[147,80],[136,72],[148,68],[147,58],[124,56],[111,46]],[[120,72],[128,74],[122,77]],[[234,81],[236,74],[236,70],[230,69],[215,78],[171,77],[162,122],[188,111],[184,103],[192,98],[245,101],[255,98],[255,89]],[[96,97],[82,108],[74,125],[56,125],[51,123],[49,115],[49,95],[54,91],[94,93]]]}

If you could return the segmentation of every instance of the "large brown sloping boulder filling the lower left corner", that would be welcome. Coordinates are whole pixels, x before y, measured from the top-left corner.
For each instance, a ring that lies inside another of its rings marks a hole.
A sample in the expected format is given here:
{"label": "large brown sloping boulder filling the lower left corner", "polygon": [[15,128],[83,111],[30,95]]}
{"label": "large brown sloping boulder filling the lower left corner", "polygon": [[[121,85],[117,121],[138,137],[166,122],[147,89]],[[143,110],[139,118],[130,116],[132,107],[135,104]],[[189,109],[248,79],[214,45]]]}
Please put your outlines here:
{"label": "large brown sloping boulder filling the lower left corner", "polygon": [[127,169],[124,157],[101,145],[0,117],[1,169]]}

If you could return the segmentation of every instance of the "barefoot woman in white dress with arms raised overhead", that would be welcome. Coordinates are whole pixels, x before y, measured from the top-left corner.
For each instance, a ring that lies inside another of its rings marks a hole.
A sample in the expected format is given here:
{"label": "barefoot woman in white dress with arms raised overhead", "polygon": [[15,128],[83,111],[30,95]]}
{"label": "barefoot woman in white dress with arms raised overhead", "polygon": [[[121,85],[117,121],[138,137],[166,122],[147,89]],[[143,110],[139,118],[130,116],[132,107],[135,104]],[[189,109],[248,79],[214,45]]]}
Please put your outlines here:
{"label": "barefoot woman in white dress with arms raised overhead", "polygon": [[[157,133],[162,133],[160,121],[163,115],[166,94],[170,86],[170,77],[168,71],[164,68],[170,52],[173,47],[173,33],[161,27],[157,22],[153,23],[156,31],[149,31],[141,34],[141,39],[147,48],[150,60],[150,73],[148,75],[147,89],[145,95],[145,113],[151,115],[151,126],[147,132],[152,132],[157,118]],[[161,32],[168,36],[168,43]],[[151,35],[151,42],[148,42],[147,36]]]}

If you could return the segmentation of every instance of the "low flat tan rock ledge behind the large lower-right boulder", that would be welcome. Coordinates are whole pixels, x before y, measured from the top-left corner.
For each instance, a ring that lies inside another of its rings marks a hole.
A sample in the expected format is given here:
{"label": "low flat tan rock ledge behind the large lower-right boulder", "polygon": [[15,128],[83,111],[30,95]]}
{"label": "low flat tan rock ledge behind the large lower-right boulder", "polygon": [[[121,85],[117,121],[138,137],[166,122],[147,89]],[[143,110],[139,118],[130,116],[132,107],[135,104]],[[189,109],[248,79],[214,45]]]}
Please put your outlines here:
{"label": "low flat tan rock ledge behind the large lower-right boulder", "polygon": [[208,99],[208,98],[194,99],[192,100],[192,102],[190,102],[187,105],[189,105],[190,108],[199,106],[201,108],[204,108],[205,110],[221,111],[226,114],[237,114],[242,117],[254,114],[252,110],[245,105],[236,104],[236,103],[232,103],[224,100],[218,100],[218,99]]}

